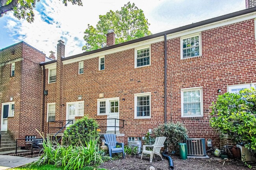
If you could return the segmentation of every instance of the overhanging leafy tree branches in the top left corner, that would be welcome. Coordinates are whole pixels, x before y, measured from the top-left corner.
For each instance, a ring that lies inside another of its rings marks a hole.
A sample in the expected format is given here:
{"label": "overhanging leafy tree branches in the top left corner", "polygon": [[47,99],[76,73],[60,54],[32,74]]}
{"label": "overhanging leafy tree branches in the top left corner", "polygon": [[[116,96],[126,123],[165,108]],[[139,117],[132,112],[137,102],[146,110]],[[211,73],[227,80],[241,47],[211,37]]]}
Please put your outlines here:
{"label": "overhanging leafy tree branches in the top left corner", "polygon": [[[33,9],[36,2],[40,0],[0,0],[0,17],[4,16],[8,11],[13,11],[13,15],[18,18],[26,19],[28,22],[34,21]],[[73,5],[78,4],[82,6],[82,0],[63,0],[65,6],[67,2],[71,2]]]}

